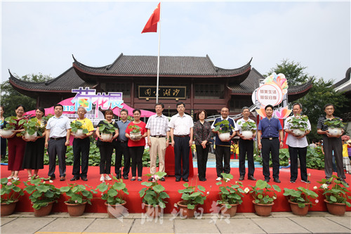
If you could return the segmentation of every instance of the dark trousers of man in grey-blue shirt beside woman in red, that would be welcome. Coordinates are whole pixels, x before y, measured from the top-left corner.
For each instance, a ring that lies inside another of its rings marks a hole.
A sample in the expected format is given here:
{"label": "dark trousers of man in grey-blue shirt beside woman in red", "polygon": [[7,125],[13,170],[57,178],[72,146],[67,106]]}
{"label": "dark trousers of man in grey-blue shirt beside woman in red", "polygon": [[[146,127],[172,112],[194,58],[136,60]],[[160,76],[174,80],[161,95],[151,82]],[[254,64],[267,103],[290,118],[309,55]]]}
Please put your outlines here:
{"label": "dark trousers of man in grey-blue shirt beside woman in red", "polygon": [[117,141],[116,147],[116,157],[114,161],[114,172],[117,174],[117,177],[121,177],[121,173],[119,169],[122,167],[122,155],[124,157],[124,168],[123,168],[123,176],[128,176],[129,170],[131,169],[131,156],[129,155],[128,150],[128,141],[121,143],[121,141]]}

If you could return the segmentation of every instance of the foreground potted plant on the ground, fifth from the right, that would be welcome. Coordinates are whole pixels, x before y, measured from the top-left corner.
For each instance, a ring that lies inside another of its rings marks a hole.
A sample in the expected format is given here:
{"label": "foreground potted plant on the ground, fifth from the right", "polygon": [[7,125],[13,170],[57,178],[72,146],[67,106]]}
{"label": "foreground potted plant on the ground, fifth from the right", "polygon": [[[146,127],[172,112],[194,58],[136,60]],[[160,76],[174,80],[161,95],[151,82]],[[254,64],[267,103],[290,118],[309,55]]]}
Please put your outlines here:
{"label": "foreground potted plant on the ground, fifth from the right", "polygon": [[180,217],[192,218],[199,204],[204,204],[209,192],[203,186],[189,186],[189,183],[184,183],[184,189],[178,190],[178,193],[182,195],[182,200],[177,202],[177,206],[180,209]]}

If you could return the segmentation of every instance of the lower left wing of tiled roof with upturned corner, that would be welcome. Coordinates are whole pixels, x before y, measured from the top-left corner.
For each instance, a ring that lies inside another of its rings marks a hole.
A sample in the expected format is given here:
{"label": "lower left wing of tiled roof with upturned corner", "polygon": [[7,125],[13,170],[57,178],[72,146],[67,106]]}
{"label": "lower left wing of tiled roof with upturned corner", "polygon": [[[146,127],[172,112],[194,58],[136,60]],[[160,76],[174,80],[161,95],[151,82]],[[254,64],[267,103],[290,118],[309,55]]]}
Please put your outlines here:
{"label": "lower left wing of tiled roof with upturned corner", "polygon": [[50,79],[47,82],[24,82],[13,76],[10,72],[10,83],[18,89],[29,91],[71,91],[71,89],[83,87],[93,87],[95,84],[84,82],[73,67],[60,74],[55,79]]}

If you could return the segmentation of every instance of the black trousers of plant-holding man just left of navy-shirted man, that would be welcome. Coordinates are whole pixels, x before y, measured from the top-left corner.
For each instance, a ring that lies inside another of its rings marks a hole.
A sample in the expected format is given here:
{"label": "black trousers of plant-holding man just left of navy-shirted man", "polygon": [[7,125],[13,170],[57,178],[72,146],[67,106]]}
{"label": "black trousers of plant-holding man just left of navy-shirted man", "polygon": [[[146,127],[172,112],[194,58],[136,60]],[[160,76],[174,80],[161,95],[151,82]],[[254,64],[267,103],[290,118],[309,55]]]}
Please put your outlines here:
{"label": "black trousers of plant-holding man just left of navy-shirted man", "polygon": [[245,158],[247,154],[247,167],[249,169],[247,175],[253,176],[255,166],[253,164],[253,140],[239,139],[239,173],[245,176]]}

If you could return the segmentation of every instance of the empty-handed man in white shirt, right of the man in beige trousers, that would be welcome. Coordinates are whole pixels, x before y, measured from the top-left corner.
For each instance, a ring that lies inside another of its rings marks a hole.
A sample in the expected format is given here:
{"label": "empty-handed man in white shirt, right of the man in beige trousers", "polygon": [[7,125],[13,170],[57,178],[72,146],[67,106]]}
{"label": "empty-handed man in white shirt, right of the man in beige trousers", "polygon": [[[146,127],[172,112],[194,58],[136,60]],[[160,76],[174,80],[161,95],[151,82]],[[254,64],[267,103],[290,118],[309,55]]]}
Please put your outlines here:
{"label": "empty-handed man in white shirt, right of the man in beige trousers", "polygon": [[[192,145],[194,122],[190,115],[185,114],[185,104],[177,103],[178,114],[171,117],[168,126],[171,129],[172,146],[174,147],[175,176],[187,182],[189,177],[189,152]],[[183,162],[183,173],[182,173]]]}

